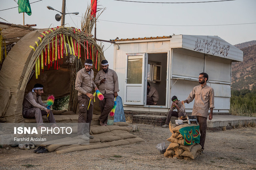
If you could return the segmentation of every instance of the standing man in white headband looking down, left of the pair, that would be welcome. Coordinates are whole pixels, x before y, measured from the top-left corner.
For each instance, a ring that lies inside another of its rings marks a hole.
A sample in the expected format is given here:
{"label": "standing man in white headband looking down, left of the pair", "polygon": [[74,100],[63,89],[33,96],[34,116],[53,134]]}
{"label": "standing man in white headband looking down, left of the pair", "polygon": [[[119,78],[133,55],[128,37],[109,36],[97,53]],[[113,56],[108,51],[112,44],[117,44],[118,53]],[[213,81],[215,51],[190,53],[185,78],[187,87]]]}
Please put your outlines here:
{"label": "standing man in white headband looking down, left of the pair", "polygon": [[[88,140],[94,137],[89,135],[92,122],[93,100],[92,88],[98,90],[93,82],[94,72],[92,70],[92,60],[86,59],[84,68],[76,73],[75,89],[78,91],[79,115],[78,115],[78,138]],[[90,107],[88,108],[90,103]],[[85,123],[89,123],[86,128]],[[88,135],[87,135],[88,134]]]}

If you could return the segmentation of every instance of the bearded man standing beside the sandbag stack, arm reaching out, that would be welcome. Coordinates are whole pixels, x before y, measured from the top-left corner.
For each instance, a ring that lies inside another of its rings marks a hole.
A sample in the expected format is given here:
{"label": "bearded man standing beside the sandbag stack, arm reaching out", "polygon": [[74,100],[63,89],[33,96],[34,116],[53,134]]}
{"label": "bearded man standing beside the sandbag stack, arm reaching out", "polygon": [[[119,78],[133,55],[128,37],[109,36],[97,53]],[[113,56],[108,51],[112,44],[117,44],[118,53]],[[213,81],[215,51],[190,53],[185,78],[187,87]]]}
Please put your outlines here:
{"label": "bearded man standing beside the sandbag stack, arm reaching out", "polygon": [[207,116],[208,110],[210,108],[209,120],[212,120],[212,111],[214,108],[214,90],[210,86],[206,85],[208,81],[208,74],[205,72],[200,73],[199,77],[199,86],[193,88],[190,92],[188,98],[182,103],[190,103],[195,99],[192,115],[196,115],[199,130],[200,130],[200,145],[204,149],[204,141],[206,137],[206,128],[207,128]]}

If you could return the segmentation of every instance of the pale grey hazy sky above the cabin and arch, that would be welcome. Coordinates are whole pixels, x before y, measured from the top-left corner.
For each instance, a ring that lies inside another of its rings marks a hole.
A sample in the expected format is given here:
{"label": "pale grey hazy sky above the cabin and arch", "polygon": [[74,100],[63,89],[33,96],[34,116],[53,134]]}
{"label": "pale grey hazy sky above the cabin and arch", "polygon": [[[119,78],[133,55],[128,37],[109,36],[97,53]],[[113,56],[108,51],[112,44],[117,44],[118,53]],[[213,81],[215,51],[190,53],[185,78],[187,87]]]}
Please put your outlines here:
{"label": "pale grey hazy sky above the cabin and arch", "polygon": [[[18,0],[0,0],[0,21],[23,24]],[[32,15],[25,14],[25,24],[36,28],[60,26],[46,6],[62,10],[62,0],[29,0]],[[129,0],[140,2],[202,2],[212,0]],[[90,0],[66,0],[65,24],[81,28],[82,15]],[[137,3],[118,0],[98,0],[98,8],[106,8],[96,23],[98,39],[156,37],[169,35],[217,35],[232,45],[256,40],[256,0],[233,0],[207,3]],[[1,11],[2,10],[2,11]],[[97,13],[98,14],[98,13]],[[4,19],[4,20],[3,20]],[[6,20],[6,21],[5,21]],[[236,25],[235,25],[236,24]],[[94,35],[94,29],[93,33]],[[113,44],[104,44],[104,56],[113,68]]]}

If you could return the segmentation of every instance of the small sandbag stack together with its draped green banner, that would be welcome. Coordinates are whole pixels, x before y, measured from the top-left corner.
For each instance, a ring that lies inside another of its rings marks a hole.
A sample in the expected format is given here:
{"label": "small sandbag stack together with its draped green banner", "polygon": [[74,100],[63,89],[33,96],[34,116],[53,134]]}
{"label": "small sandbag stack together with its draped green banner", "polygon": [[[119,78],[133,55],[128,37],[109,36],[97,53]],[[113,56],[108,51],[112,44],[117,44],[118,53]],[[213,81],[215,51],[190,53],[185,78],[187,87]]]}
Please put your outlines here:
{"label": "small sandbag stack together with its draped green banner", "polygon": [[[166,149],[164,156],[192,160],[201,154],[202,146],[198,144],[200,142],[199,125],[184,124],[177,126],[176,124],[170,123],[169,129],[172,135],[167,141],[170,141],[171,143]],[[187,129],[193,129],[193,131],[188,131]],[[184,134],[186,134],[186,140],[184,140]]]}

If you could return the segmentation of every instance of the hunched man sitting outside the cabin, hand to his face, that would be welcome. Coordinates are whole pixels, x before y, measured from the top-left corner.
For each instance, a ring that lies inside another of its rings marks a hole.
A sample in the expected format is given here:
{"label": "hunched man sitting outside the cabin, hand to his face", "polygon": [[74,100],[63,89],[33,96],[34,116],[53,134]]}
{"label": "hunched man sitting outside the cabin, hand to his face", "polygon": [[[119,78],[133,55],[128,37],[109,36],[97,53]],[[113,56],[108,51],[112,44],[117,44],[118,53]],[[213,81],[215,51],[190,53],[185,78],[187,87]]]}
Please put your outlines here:
{"label": "hunched man sitting outside the cabin, hand to his face", "polygon": [[[173,111],[174,109],[177,109],[177,111]],[[162,125],[162,127],[169,127],[169,123],[171,120],[172,116],[175,117],[181,117],[181,116],[185,116],[186,112],[185,112],[185,108],[182,104],[182,102],[180,102],[180,100],[178,100],[178,98],[176,96],[172,96],[172,106],[171,106],[171,110],[169,111],[168,115],[167,115],[167,119],[165,121],[165,124]]]}

